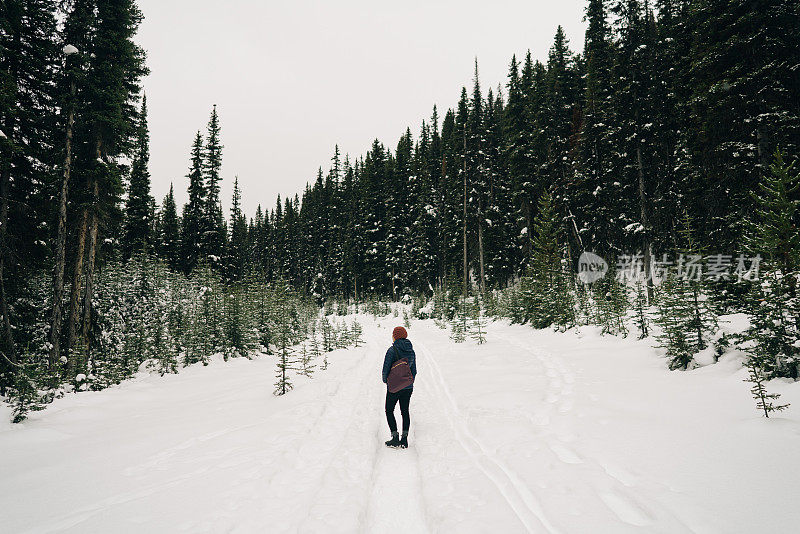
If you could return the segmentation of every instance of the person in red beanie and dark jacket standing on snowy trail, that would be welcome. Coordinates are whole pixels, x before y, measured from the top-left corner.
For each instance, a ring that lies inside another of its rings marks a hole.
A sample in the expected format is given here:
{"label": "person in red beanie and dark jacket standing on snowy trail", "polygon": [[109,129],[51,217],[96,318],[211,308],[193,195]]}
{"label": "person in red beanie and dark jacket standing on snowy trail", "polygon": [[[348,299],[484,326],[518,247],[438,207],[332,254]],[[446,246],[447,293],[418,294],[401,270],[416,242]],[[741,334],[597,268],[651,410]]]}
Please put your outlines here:
{"label": "person in red beanie and dark jacket standing on snowy trail", "polygon": [[[392,439],[386,442],[388,447],[408,447],[408,428],[411,418],[408,404],[414,391],[414,378],[417,376],[417,357],[408,340],[408,332],[402,326],[392,331],[392,346],[386,351],[383,359],[383,383],[386,384],[386,421],[392,432]],[[406,385],[407,384],[407,385]],[[403,436],[397,433],[397,421],[394,418],[394,407],[400,403],[403,416]]]}

